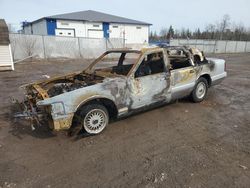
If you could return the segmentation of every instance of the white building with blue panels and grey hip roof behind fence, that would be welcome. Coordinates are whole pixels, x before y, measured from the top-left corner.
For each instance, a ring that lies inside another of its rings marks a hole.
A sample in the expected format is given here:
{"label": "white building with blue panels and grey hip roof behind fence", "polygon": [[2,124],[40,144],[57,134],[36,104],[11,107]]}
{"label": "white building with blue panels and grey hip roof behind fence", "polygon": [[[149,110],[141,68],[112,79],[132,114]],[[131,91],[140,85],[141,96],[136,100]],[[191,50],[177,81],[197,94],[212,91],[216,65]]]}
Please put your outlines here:
{"label": "white building with blue panels and grey hip roof behind fence", "polygon": [[44,17],[24,23],[25,34],[87,38],[123,38],[127,44],[148,43],[151,24],[92,10]]}

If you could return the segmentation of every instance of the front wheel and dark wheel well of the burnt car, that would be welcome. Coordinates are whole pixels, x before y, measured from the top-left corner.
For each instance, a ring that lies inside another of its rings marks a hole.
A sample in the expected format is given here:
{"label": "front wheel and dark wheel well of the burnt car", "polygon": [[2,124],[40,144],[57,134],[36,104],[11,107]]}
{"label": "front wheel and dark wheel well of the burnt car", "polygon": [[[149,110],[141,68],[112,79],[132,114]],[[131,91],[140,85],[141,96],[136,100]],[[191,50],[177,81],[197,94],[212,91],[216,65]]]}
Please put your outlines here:
{"label": "front wheel and dark wheel well of the burnt car", "polygon": [[69,135],[77,135],[82,130],[88,134],[101,133],[109,123],[109,113],[101,104],[88,104],[81,107],[74,116]]}

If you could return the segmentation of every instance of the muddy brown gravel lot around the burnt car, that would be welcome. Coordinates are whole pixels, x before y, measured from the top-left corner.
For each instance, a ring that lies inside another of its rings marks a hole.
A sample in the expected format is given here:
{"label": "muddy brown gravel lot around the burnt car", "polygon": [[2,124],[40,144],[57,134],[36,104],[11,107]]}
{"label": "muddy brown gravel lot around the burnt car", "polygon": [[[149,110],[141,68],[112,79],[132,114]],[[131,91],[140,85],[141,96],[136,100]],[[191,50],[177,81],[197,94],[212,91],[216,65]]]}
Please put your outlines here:
{"label": "muddy brown gravel lot around the burnt car", "polygon": [[204,102],[182,99],[78,139],[14,122],[9,96],[87,61],[0,72],[0,187],[250,187],[250,54],[216,56],[229,75]]}

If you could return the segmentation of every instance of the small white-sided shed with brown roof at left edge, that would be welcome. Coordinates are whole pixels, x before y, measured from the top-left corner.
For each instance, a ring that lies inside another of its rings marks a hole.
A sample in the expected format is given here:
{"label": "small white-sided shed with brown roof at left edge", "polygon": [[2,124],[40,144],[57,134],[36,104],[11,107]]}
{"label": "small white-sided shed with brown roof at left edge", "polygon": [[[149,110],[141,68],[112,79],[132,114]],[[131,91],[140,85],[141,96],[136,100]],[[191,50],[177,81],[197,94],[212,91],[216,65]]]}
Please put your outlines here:
{"label": "small white-sided shed with brown roof at left edge", "polygon": [[9,30],[3,19],[0,19],[0,70],[14,70]]}

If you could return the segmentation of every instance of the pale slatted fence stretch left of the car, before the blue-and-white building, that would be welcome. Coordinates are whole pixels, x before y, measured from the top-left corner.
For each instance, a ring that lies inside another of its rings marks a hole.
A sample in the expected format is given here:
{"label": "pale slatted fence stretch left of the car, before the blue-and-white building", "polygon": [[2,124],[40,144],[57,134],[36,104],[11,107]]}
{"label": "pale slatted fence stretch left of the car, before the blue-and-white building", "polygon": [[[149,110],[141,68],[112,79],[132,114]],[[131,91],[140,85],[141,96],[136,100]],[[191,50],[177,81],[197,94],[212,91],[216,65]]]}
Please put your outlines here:
{"label": "pale slatted fence stretch left of the car, before the blue-and-white building", "polygon": [[124,39],[72,38],[10,34],[12,53],[15,60],[36,56],[50,58],[96,58],[104,51],[123,48]]}

